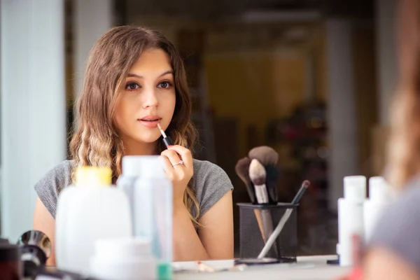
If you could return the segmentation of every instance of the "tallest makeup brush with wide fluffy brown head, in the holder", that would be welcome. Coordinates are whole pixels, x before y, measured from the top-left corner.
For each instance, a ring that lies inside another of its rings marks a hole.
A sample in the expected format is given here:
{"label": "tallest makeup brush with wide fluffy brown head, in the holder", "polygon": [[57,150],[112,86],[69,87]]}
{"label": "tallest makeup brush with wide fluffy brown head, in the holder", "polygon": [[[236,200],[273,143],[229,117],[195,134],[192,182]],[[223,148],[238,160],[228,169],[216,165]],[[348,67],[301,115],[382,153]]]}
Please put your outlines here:
{"label": "tallest makeup brush with wide fluffy brown head, in the holder", "polygon": [[277,181],[279,180],[279,169],[277,162],[279,161],[279,153],[269,146],[259,146],[253,148],[248,153],[248,157],[256,159],[265,167],[267,173],[265,185],[267,188],[269,204],[277,204],[279,195],[277,191]]}

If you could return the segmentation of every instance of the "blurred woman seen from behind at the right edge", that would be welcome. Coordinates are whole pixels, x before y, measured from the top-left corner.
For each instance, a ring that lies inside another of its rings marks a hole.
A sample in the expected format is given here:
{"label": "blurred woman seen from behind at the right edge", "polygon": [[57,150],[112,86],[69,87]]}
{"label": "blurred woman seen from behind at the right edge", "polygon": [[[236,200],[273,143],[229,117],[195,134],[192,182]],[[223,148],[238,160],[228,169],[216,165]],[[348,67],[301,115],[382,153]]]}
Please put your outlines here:
{"label": "blurred woman seen from behind at the right edge", "polygon": [[420,279],[420,1],[400,0],[399,85],[386,177],[400,190],[377,225],[363,279]]}

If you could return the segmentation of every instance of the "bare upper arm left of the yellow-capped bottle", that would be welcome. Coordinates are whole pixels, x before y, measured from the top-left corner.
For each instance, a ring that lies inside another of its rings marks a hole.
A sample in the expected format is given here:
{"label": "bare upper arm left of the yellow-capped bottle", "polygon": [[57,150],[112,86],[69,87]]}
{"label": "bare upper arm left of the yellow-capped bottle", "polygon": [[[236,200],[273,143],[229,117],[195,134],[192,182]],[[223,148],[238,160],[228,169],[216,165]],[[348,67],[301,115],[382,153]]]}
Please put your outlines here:
{"label": "bare upper arm left of the yellow-capped bottle", "polygon": [[50,238],[51,241],[51,255],[47,260],[47,265],[55,265],[55,220],[52,218],[50,212],[45,208],[39,197],[36,197],[34,230],[39,230]]}

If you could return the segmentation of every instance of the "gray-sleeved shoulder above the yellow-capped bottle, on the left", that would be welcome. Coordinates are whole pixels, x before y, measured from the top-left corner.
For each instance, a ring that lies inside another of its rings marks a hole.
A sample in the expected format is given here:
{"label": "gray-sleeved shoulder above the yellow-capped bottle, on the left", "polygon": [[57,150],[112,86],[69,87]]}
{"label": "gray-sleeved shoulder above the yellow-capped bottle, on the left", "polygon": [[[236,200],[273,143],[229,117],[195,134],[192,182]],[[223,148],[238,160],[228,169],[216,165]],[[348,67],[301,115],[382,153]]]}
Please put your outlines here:
{"label": "gray-sleeved shoulder above the yellow-capped bottle, on the left", "polygon": [[73,160],[64,160],[64,162],[46,172],[34,186],[36,195],[52,217],[55,217],[59,192],[66,186],[71,185],[72,169]]}

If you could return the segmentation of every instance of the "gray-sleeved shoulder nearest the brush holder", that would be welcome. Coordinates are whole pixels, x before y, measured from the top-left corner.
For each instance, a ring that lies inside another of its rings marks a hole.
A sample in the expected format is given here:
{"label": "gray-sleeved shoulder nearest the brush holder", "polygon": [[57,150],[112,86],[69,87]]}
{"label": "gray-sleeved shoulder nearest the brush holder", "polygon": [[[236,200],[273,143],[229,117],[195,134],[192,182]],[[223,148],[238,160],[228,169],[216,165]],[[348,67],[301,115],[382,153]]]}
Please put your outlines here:
{"label": "gray-sleeved shoulder nearest the brush holder", "polygon": [[205,214],[223,195],[233,190],[228,174],[212,162],[194,160],[194,187],[200,204],[200,216]]}

